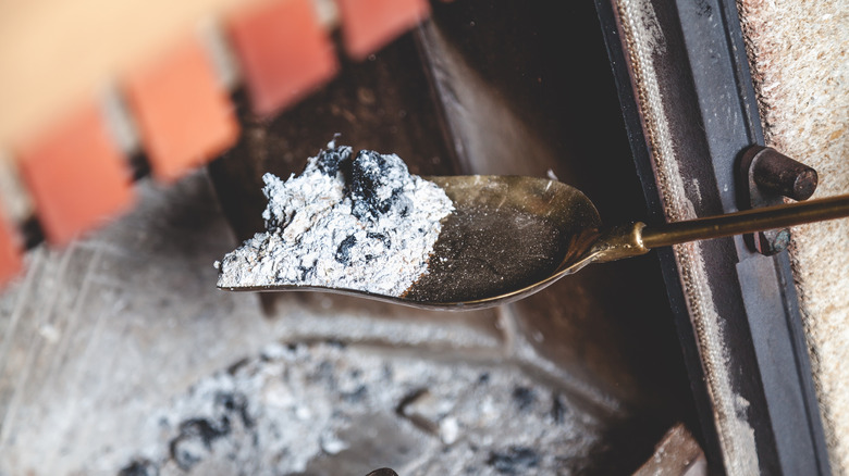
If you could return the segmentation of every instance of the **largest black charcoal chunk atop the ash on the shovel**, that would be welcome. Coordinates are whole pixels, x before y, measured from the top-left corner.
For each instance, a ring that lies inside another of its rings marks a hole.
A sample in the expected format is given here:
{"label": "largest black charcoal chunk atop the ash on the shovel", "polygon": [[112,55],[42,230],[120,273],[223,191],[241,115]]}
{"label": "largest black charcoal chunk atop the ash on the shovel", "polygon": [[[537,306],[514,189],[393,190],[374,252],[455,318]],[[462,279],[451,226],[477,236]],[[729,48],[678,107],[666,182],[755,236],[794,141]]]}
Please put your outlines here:
{"label": "largest black charcoal chunk atop the ash on the shovel", "polygon": [[[352,213],[361,220],[389,212],[402,192],[402,181],[397,178],[407,175],[407,165],[397,155],[382,155],[373,150],[361,150],[350,168],[350,198],[354,204]],[[398,186],[381,199],[379,190],[394,184]]]}

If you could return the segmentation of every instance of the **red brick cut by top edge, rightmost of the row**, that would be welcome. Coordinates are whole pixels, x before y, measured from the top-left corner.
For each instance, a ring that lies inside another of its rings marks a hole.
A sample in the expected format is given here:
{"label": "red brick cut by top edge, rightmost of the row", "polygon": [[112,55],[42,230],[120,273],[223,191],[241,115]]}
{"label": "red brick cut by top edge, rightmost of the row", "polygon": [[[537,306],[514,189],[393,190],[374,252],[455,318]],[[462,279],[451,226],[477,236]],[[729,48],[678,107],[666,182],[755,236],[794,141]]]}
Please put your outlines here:
{"label": "red brick cut by top edge, rightmost of the row", "polygon": [[336,0],[348,55],[362,60],[430,14],[427,0]]}

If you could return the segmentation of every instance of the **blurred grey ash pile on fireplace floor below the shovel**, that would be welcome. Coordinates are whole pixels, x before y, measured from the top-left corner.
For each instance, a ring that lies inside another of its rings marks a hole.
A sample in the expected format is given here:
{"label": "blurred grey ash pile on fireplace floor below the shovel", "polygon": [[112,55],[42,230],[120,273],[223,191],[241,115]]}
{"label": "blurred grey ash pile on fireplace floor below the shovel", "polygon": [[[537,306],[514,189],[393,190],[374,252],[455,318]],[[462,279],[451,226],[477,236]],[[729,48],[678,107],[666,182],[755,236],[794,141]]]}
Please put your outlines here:
{"label": "blurred grey ash pile on fireplace floor below the shovel", "polygon": [[121,474],[571,474],[602,438],[573,405],[509,365],[273,345],[151,415]]}

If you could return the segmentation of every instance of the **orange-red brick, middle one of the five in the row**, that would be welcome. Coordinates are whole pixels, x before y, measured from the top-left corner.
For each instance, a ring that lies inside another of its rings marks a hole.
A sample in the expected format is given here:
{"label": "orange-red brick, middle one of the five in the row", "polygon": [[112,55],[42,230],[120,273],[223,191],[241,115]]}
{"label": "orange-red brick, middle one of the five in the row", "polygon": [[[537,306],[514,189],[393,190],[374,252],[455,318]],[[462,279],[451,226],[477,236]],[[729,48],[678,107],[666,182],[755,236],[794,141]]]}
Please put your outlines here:
{"label": "orange-red brick, middle one of the five in the row", "polygon": [[233,146],[238,123],[206,51],[189,37],[126,77],[153,176],[173,181]]}

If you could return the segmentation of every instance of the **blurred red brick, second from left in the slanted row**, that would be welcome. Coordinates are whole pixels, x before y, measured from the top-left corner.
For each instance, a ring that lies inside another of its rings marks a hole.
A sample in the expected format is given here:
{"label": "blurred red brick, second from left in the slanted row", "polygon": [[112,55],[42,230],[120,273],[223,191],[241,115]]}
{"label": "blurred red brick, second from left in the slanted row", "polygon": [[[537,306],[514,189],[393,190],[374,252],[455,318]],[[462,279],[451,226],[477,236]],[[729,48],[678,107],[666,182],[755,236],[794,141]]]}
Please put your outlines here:
{"label": "blurred red brick, second from left in the slanted row", "polygon": [[47,240],[65,245],[127,209],[132,176],[91,102],[25,145],[19,153]]}

